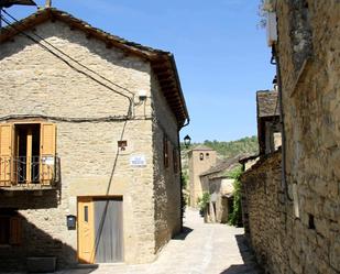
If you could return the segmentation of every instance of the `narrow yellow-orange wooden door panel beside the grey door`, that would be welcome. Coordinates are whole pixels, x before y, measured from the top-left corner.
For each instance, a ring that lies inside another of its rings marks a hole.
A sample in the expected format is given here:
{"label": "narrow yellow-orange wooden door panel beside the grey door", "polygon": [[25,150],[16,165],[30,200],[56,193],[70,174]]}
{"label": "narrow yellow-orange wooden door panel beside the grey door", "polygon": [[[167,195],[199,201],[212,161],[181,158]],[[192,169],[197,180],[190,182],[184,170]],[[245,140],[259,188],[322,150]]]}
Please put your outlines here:
{"label": "narrow yellow-orange wooden door panel beside the grey door", "polygon": [[78,260],[81,263],[94,263],[94,202],[89,197],[78,198]]}

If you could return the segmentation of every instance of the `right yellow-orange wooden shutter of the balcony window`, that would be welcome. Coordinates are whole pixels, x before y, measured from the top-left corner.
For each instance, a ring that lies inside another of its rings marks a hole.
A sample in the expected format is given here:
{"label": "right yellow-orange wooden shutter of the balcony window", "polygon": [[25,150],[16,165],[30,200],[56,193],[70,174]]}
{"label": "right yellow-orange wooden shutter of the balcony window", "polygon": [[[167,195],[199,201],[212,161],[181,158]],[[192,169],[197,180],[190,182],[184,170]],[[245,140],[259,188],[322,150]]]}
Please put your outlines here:
{"label": "right yellow-orange wooden shutter of the balcony window", "polygon": [[54,123],[41,124],[41,184],[50,185],[55,169],[56,127]]}

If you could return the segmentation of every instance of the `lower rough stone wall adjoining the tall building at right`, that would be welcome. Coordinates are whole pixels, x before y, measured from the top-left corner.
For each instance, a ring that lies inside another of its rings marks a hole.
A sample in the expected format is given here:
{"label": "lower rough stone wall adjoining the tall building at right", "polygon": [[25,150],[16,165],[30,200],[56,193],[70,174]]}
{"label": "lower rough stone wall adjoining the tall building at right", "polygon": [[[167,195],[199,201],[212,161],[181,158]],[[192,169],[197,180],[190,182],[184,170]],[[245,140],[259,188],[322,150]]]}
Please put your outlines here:
{"label": "lower rough stone wall adjoining the tall building at right", "polygon": [[260,160],[241,177],[242,213],[259,264],[267,273],[288,274],[285,204],[281,191],[281,152]]}

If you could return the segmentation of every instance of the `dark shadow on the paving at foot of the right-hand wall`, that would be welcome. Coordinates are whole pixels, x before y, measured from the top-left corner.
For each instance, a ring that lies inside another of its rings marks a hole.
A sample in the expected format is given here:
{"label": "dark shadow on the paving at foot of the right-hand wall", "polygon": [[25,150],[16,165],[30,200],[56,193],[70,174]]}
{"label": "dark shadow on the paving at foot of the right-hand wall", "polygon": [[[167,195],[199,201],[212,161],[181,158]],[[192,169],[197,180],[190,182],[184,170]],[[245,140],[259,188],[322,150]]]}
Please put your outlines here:
{"label": "dark shadow on the paving at foot of the right-hand wall", "polygon": [[233,264],[220,274],[263,274],[244,234],[235,235],[243,264]]}

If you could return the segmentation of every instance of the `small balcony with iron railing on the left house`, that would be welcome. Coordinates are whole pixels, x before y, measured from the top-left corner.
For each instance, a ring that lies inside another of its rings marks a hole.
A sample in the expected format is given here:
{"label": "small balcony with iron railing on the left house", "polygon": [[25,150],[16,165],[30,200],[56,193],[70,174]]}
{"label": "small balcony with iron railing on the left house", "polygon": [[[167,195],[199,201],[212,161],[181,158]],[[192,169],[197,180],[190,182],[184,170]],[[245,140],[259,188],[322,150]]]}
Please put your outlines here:
{"label": "small balcony with iron railing on the left house", "polygon": [[0,157],[1,190],[54,189],[59,175],[56,156]]}

